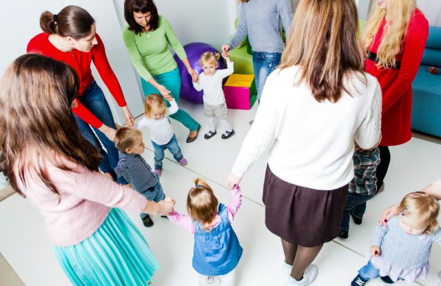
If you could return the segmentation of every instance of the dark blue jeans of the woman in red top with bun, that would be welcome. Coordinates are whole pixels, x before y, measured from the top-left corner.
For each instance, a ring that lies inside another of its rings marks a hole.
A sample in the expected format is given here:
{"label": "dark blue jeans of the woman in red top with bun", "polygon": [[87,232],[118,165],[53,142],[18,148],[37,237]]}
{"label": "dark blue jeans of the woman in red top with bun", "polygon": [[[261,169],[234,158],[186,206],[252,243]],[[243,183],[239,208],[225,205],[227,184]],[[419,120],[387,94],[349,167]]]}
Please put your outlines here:
{"label": "dark blue jeans of the woman in red top with bun", "polygon": [[[81,96],[78,96],[78,100],[85,106],[85,108],[92,112],[97,119],[99,119],[105,125],[116,129],[109,104],[105,100],[103,90],[101,90],[101,88],[96,84],[96,81],[92,81],[92,83],[90,83],[85,92]],[[76,125],[79,127],[81,135],[92,143],[92,145],[99,150],[101,156],[103,156],[103,160],[101,160],[99,165],[100,170],[104,173],[110,172],[112,176],[116,177],[114,167],[116,167],[118,164],[119,156],[114,142],[108,139],[103,132],[99,131],[95,127],[90,126],[88,123],[83,121],[83,119],[79,118],[79,116],[76,116],[76,114],[74,114],[74,118]],[[98,138],[96,138],[91,128],[93,128]],[[103,143],[105,150],[103,149],[103,146],[101,146],[100,141]],[[119,178],[118,181],[123,185],[127,184],[127,181],[125,181],[125,179],[122,177]]]}

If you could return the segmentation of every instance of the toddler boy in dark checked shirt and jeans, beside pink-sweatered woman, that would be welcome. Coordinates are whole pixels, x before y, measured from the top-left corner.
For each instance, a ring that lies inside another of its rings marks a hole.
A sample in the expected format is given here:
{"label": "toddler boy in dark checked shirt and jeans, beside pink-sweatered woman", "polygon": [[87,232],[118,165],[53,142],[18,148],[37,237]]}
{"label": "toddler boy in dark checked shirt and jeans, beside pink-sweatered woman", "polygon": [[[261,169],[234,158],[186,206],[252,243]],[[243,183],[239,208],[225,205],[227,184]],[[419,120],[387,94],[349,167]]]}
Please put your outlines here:
{"label": "toddler boy in dark checked shirt and jeans, beside pink-sweatered woman", "polygon": [[[165,198],[163,187],[159,182],[158,174],[152,172],[152,168],[144,160],[144,143],[141,131],[121,127],[116,130],[115,146],[119,149],[119,161],[115,167],[116,176],[123,176],[130,183],[133,190],[139,192],[147,200],[162,201]],[[140,214],[145,227],[153,225],[152,218],[148,214]]]}

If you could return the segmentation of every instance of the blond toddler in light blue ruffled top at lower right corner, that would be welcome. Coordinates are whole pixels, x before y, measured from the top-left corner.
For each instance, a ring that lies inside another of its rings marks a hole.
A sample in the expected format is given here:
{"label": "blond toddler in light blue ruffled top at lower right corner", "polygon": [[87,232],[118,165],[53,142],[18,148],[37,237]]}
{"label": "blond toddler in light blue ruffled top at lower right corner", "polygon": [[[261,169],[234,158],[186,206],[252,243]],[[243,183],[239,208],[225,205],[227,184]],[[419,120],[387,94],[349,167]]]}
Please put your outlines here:
{"label": "blond toddler in light blue ruffled top at lower right corner", "polygon": [[369,279],[386,283],[429,276],[429,256],[433,243],[441,245],[441,229],[437,217],[438,201],[424,192],[407,194],[397,207],[388,225],[378,223],[373,233],[372,257],[358,271],[351,286],[363,286]]}

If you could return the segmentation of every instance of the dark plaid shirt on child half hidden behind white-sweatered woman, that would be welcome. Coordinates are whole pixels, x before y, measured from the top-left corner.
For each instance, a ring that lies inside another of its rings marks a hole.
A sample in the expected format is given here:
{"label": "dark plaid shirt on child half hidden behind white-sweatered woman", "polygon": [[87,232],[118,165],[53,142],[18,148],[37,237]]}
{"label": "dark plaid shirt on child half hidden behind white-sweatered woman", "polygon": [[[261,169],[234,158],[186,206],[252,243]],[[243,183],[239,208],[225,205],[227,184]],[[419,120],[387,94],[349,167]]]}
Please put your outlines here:
{"label": "dark plaid shirt on child half hidden behind white-sweatered woman", "polygon": [[380,149],[356,151],[353,156],[354,176],[349,183],[349,194],[369,196],[377,191],[377,167],[380,164]]}

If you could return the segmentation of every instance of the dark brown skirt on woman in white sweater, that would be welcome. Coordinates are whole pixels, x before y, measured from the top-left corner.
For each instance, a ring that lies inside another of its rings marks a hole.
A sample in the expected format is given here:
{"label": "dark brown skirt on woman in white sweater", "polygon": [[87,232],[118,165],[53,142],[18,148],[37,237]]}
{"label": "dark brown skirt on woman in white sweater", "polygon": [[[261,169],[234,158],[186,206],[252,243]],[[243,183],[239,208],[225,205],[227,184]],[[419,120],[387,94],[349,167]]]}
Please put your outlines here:
{"label": "dark brown skirt on woman in white sweater", "polygon": [[265,225],[283,240],[305,247],[337,237],[348,185],[336,190],[314,190],[287,183],[267,166],[263,183]]}

